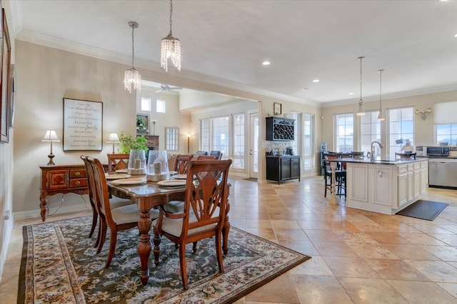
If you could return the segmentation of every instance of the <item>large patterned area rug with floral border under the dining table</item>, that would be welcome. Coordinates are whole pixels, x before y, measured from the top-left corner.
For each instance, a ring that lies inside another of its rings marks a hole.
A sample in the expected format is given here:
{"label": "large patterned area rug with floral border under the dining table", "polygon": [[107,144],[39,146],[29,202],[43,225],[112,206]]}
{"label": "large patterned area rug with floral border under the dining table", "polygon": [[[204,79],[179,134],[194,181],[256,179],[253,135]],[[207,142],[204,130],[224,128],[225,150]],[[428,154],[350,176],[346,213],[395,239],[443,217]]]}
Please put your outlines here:
{"label": "large patterned area rug with floral border under the dining table", "polygon": [[214,239],[199,241],[196,253],[189,244],[189,290],[183,290],[179,251],[163,238],[159,266],[151,254],[143,286],[138,229],[118,234],[111,266],[104,268],[109,239],[96,255],[90,226],[90,217],[24,226],[18,303],[232,303],[310,258],[232,227],[225,273],[219,273]]}

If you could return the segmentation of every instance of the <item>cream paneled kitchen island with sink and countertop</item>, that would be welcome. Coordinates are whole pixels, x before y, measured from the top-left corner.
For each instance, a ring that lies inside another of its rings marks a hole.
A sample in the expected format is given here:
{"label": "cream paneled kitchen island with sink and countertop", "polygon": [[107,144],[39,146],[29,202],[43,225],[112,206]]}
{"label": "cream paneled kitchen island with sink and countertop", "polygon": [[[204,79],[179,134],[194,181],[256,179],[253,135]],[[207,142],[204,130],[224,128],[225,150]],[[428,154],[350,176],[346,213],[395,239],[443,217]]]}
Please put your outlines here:
{"label": "cream paneled kitchen island with sink and countertop", "polygon": [[[331,160],[331,167],[336,162],[346,162],[346,206],[351,208],[395,214],[421,199],[428,187],[428,159],[343,158]],[[336,204],[334,191],[329,201]]]}

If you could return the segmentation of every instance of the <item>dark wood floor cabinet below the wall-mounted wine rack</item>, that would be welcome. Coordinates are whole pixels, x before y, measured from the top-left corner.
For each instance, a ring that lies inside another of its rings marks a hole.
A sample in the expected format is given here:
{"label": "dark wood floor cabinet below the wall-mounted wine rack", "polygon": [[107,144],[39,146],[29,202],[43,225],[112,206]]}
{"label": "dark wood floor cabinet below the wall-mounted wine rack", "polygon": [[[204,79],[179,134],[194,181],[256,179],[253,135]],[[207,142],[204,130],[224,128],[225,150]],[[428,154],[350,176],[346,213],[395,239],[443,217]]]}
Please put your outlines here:
{"label": "dark wood floor cabinet below the wall-mounted wine rack", "polygon": [[298,155],[266,156],[266,179],[281,181],[300,180],[300,157]]}

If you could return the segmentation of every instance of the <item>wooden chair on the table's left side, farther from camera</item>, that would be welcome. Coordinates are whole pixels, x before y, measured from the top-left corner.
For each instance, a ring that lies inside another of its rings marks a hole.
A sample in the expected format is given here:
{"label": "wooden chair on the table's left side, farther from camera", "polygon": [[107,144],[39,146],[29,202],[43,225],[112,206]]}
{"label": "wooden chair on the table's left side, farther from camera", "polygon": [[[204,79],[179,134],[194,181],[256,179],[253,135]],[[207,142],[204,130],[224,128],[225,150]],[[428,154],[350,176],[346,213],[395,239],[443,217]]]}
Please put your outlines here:
{"label": "wooden chair on the table's left side, farther from camera", "polygon": [[[92,170],[91,164],[89,161],[86,159],[86,156],[81,155],[81,159],[84,162],[84,165],[86,166],[86,175],[87,175],[87,188],[89,192],[89,202],[91,203],[91,208],[92,208],[92,226],[91,226],[91,231],[89,232],[89,238],[91,238],[94,235],[95,227],[97,224],[97,221],[99,221],[99,209],[96,205],[95,201],[95,189],[94,189],[94,172]],[[111,209],[118,208],[121,206],[126,206],[132,204],[130,199],[121,199],[119,197],[114,197],[112,199],[109,199],[109,205],[111,206]],[[99,246],[99,241],[100,241],[100,229],[101,229],[102,224],[99,224],[99,233],[97,234],[97,239],[94,247]]]}

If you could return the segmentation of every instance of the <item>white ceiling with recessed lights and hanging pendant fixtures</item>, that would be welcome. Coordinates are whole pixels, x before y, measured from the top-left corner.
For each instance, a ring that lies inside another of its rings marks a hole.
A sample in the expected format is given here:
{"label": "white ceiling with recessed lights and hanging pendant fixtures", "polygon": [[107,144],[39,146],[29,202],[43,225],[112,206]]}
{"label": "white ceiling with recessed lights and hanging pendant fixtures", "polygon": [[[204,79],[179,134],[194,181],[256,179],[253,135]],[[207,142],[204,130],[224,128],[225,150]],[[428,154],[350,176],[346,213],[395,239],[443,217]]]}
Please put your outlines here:
{"label": "white ceiling with recessed lights and hanging pendant fixtures", "polygon": [[[169,1],[11,1],[17,38],[160,68]],[[181,72],[169,74],[318,105],[457,89],[456,1],[175,0]],[[271,65],[263,66],[263,61]],[[318,83],[313,80],[318,79]],[[169,83],[173,85],[174,83]],[[308,90],[303,90],[308,88]],[[353,95],[349,95],[353,93]]]}

